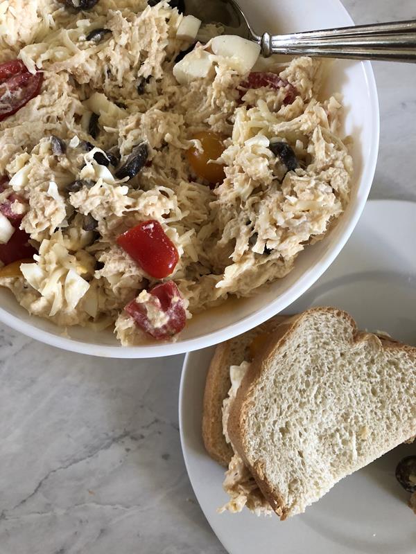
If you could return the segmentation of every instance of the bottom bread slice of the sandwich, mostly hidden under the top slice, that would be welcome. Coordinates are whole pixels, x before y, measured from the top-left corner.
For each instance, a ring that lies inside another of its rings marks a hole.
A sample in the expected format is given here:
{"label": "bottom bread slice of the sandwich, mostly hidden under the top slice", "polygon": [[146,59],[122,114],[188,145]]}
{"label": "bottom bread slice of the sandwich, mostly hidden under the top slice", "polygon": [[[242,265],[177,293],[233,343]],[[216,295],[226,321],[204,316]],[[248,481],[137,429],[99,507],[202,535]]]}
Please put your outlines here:
{"label": "bottom bread slice of the sandwich, mostly hidden under the top slice", "polygon": [[259,327],[216,347],[205,382],[202,438],[209,456],[225,467],[228,467],[234,454],[223,435],[223,400],[231,386],[229,366],[238,366],[244,360],[250,361],[250,345],[254,338],[263,333],[275,332],[285,319],[286,316],[275,316]]}

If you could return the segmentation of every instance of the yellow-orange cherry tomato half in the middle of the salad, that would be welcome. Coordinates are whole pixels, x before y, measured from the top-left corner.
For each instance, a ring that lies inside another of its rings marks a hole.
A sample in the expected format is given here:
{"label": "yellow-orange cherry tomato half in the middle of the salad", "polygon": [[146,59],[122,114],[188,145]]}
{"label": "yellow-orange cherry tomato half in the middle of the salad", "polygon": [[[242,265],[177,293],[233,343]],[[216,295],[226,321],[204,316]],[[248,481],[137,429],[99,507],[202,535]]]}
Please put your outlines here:
{"label": "yellow-orange cherry tomato half in the middle of the salad", "polygon": [[207,179],[211,185],[222,182],[225,179],[224,166],[219,163],[208,162],[209,160],[218,159],[223,154],[225,150],[223,140],[225,137],[209,131],[201,131],[192,138],[200,141],[202,145],[202,152],[194,147],[187,151],[187,159],[193,171],[196,172],[198,177]]}

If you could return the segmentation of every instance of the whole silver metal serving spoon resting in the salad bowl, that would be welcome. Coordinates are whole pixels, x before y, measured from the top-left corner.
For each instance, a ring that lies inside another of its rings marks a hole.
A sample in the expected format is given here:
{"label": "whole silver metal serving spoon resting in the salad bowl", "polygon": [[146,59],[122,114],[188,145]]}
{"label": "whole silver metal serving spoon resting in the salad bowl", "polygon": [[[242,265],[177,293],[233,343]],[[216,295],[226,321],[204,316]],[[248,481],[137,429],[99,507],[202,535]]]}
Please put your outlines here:
{"label": "whole silver metal serving spoon resting in the salad bowl", "polygon": [[185,13],[203,23],[222,24],[227,35],[257,42],[266,57],[291,54],[416,63],[416,21],[257,35],[235,0],[185,0]]}

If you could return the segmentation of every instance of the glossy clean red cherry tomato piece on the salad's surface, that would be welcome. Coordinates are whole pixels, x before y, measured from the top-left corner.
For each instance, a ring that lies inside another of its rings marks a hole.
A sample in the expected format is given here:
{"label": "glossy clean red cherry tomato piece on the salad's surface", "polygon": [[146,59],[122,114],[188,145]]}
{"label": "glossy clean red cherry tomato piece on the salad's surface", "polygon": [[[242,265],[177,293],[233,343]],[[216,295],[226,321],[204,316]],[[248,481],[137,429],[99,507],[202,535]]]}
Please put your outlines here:
{"label": "glossy clean red cherry tomato piece on the salad's surface", "polygon": [[171,275],[179,260],[175,244],[155,220],[145,221],[117,238],[117,244],[152,277]]}

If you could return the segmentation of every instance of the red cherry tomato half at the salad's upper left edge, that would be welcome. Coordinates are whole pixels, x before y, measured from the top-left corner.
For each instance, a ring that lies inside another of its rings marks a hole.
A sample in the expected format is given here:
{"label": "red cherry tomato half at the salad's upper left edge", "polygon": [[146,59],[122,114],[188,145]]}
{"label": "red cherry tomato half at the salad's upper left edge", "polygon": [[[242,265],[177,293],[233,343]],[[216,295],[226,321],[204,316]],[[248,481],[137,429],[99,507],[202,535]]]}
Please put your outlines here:
{"label": "red cherry tomato half at the salad's upper left edge", "polygon": [[0,121],[40,93],[43,73],[30,73],[21,60],[0,64]]}

